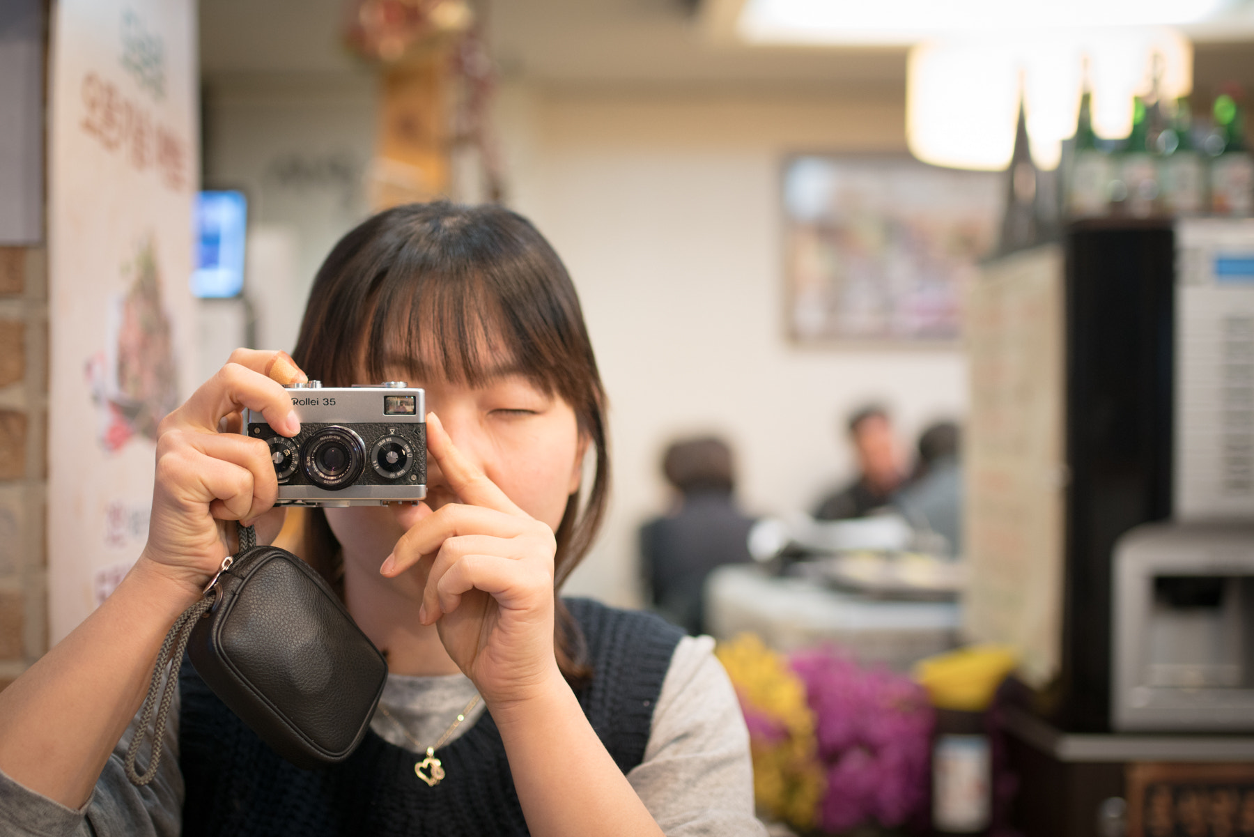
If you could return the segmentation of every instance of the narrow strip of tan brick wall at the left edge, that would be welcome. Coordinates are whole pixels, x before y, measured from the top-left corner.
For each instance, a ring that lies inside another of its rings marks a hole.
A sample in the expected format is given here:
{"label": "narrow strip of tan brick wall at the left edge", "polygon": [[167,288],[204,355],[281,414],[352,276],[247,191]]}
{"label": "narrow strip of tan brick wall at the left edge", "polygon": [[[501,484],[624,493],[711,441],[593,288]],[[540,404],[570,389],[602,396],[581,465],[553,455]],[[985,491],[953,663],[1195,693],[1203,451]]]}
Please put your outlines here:
{"label": "narrow strip of tan brick wall at the left edge", "polygon": [[48,648],[48,260],[0,247],[0,689]]}

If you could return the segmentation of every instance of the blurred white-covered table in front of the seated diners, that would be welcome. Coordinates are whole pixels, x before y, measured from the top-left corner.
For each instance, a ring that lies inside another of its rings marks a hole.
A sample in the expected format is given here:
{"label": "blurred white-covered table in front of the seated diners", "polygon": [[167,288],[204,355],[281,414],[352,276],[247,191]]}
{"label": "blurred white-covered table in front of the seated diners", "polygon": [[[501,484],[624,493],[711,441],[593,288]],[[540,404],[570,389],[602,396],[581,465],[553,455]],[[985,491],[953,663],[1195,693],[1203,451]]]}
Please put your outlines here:
{"label": "blurred white-covered table in front of the seated diners", "polygon": [[834,642],[860,663],[904,671],[958,644],[961,607],[875,599],[755,565],[729,565],[706,581],[705,621],[720,641],[749,631],[779,651]]}

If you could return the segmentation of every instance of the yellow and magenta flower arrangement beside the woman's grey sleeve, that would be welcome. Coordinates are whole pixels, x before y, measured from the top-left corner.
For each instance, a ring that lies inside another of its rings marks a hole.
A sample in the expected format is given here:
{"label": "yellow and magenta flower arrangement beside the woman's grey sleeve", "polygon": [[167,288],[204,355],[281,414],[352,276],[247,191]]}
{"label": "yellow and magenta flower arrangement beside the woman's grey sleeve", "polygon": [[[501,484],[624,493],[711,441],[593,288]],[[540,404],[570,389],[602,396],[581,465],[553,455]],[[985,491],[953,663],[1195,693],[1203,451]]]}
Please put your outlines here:
{"label": "yellow and magenta flower arrangement beside the woman's grey sleeve", "polygon": [[928,799],[934,712],[905,675],[833,648],[791,659],[744,635],[719,649],[740,695],[759,806],[839,833],[905,823]]}

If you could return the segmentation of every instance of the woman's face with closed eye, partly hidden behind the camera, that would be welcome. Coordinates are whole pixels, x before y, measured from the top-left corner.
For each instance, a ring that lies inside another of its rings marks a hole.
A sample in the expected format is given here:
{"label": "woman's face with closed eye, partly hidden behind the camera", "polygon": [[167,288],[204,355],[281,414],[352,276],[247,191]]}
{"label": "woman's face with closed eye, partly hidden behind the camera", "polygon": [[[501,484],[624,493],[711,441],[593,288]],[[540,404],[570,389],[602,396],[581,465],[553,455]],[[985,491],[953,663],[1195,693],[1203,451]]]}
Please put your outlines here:
{"label": "woman's face with closed eye, partly hidden behind the camera", "polygon": [[[426,409],[440,417],[472,463],[524,512],[557,530],[568,497],[579,488],[587,449],[569,404],[508,368],[479,387],[444,379],[408,383],[426,390]],[[426,492],[419,506],[327,508],[327,522],[344,545],[345,571],[377,573],[410,526],[445,503],[461,502],[433,457],[426,463]]]}

